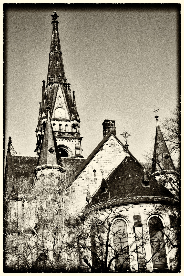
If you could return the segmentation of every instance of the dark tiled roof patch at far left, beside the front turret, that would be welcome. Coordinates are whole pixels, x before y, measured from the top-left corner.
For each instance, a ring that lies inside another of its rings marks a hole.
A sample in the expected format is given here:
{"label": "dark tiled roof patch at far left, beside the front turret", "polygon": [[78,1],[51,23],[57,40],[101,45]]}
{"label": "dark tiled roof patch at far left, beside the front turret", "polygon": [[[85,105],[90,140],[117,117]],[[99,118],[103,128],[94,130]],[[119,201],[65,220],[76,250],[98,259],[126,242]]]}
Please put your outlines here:
{"label": "dark tiled roof patch at far left, beside the front turret", "polygon": [[11,156],[14,160],[14,176],[15,179],[22,177],[28,177],[33,174],[37,166],[38,157],[37,156]]}

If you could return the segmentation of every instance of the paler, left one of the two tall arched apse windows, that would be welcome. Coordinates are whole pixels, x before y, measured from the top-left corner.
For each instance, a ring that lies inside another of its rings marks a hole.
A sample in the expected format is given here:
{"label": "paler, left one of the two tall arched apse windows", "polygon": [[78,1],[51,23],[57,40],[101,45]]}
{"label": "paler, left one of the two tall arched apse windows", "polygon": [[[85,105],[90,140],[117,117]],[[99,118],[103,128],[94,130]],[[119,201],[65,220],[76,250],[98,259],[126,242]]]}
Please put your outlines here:
{"label": "paler, left one of the two tall arched apse windows", "polygon": [[114,249],[119,255],[118,259],[115,259],[116,271],[125,272],[130,269],[126,222],[123,219],[117,219],[112,225],[112,230]]}

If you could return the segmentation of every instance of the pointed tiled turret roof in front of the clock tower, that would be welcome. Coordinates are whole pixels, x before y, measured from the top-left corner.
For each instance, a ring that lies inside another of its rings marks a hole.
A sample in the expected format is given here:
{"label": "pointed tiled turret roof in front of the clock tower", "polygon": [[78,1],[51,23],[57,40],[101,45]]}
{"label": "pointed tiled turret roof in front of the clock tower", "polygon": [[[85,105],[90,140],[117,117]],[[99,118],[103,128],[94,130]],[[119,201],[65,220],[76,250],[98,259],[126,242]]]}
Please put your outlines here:
{"label": "pointed tiled turret roof in front of the clock tower", "polygon": [[40,149],[40,156],[38,158],[38,166],[46,164],[59,164],[60,155],[56,142],[55,135],[53,133],[52,124],[50,122],[50,116],[48,112],[45,132],[43,135],[43,142]]}

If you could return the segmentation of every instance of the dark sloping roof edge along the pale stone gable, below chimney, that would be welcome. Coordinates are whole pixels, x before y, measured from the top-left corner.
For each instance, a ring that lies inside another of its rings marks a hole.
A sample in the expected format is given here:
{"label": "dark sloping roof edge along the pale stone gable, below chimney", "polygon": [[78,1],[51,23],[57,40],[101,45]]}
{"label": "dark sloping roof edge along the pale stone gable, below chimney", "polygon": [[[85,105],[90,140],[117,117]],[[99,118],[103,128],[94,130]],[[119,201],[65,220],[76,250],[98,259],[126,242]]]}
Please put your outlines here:
{"label": "dark sloping roof edge along the pale stone gable, below chimney", "polygon": [[[102,141],[97,145],[97,147],[92,151],[92,153],[88,156],[88,158],[84,161],[84,163],[82,164],[82,166],[76,171],[76,174],[74,175],[73,181],[77,178],[77,176],[81,173],[81,171],[87,166],[87,164],[89,164],[89,162],[92,160],[92,158],[99,152],[99,150],[103,147],[103,145],[107,142],[107,140],[109,139],[110,136],[114,136],[114,138],[122,145],[123,148],[125,148],[125,146],[123,145],[123,143],[118,139],[118,137],[113,133],[113,132],[109,132],[108,135],[106,135]],[[134,158],[134,160],[138,161],[132,154],[131,152],[129,152],[128,150],[128,154]]]}

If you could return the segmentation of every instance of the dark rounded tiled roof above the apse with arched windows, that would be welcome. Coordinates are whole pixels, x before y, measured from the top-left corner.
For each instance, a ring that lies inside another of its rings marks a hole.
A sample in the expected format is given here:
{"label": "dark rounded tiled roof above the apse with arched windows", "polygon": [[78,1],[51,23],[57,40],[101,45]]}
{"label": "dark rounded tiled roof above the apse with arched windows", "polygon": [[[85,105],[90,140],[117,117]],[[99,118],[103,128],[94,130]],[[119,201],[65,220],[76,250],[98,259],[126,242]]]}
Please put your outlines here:
{"label": "dark rounded tiled roof above the apse with arched windows", "polygon": [[139,162],[126,156],[120,165],[106,180],[107,192],[98,189],[92,197],[91,204],[96,205],[105,201],[128,197],[168,197],[174,196],[163,186],[159,186],[156,179],[149,176],[149,186],[144,186],[144,169]]}

